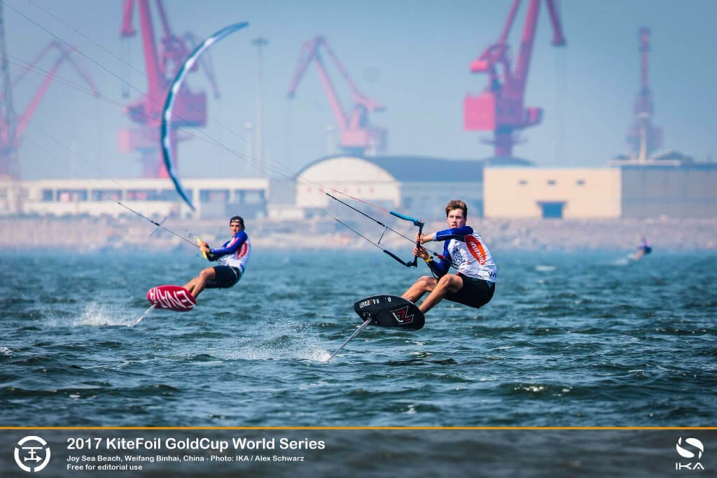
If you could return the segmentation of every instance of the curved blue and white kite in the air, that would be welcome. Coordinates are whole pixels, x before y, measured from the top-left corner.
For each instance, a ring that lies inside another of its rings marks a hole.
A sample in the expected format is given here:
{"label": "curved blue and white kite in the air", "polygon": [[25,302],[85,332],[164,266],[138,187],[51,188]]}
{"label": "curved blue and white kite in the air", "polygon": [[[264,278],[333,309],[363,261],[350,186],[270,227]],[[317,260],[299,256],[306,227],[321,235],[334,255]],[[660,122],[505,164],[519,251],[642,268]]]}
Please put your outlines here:
{"label": "curved blue and white kite in the air", "polygon": [[206,40],[204,40],[204,42],[199,44],[199,46],[194,49],[194,52],[191,52],[184,64],[181,65],[179,72],[177,72],[177,75],[174,78],[174,82],[172,82],[172,85],[169,88],[169,92],[167,93],[167,99],[164,102],[160,133],[164,166],[167,168],[167,173],[172,179],[174,187],[179,193],[179,196],[184,199],[184,202],[186,202],[186,204],[189,204],[189,207],[191,207],[192,211],[196,210],[194,208],[194,204],[191,204],[191,199],[189,199],[189,195],[186,193],[186,191],[184,191],[184,188],[182,188],[181,182],[179,181],[179,176],[177,176],[176,171],[174,171],[174,166],[172,166],[172,150],[169,132],[171,130],[171,118],[172,108],[174,107],[174,98],[179,92],[182,82],[184,82],[184,77],[186,77],[186,74],[189,72],[189,70],[191,70],[191,67],[193,67],[199,57],[201,57],[201,54],[204,53],[204,50],[211,47],[213,44],[219,42],[219,40],[221,40],[222,38],[227,37],[227,35],[237,32],[240,29],[246,27],[247,25],[248,23],[246,21],[229,25],[229,27],[222,28],[221,30],[219,30],[219,32],[213,34],[211,37],[207,38]]}

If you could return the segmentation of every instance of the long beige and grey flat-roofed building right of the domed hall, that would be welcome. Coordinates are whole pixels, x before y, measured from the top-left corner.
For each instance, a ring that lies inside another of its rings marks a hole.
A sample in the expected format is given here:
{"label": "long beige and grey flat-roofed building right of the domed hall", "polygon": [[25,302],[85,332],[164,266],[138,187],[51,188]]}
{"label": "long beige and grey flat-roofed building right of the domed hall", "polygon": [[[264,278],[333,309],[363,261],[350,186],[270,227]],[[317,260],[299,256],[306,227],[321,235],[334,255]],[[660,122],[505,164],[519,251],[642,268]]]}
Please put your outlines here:
{"label": "long beige and grey flat-roofed building right of the domed hall", "polygon": [[486,217],[717,216],[717,164],[625,161],[607,168],[497,168],[484,176]]}

